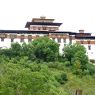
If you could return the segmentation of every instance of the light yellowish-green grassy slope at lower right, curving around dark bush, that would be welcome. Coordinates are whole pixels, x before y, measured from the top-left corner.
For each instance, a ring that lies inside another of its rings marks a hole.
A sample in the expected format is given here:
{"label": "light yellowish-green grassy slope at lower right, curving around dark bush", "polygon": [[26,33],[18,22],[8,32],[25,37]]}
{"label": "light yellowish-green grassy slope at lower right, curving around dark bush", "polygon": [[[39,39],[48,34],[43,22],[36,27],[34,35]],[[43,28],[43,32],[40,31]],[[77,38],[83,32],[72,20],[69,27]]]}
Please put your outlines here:
{"label": "light yellowish-green grassy slope at lower right, curving around dark bush", "polygon": [[65,72],[67,74],[68,82],[60,86],[60,90],[64,90],[70,95],[74,95],[76,89],[81,89],[83,95],[95,95],[95,77],[90,75],[78,77],[72,74],[71,70],[62,67],[60,70],[58,68],[50,68],[50,70],[55,75],[60,72]]}

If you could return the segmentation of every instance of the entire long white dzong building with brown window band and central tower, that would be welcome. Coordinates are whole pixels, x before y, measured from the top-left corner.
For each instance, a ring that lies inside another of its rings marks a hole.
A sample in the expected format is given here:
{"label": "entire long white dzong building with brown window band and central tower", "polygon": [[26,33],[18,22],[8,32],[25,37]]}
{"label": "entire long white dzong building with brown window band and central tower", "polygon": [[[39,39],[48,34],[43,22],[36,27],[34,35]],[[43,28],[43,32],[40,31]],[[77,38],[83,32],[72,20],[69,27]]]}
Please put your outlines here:
{"label": "entire long white dzong building with brown window band and central tower", "polygon": [[48,36],[60,45],[60,53],[65,45],[80,43],[86,48],[89,59],[95,59],[95,36],[84,33],[84,30],[79,30],[79,33],[59,31],[61,24],[54,22],[54,19],[40,17],[26,23],[28,30],[0,30],[0,48],[9,48],[13,42],[28,43],[37,37]]}

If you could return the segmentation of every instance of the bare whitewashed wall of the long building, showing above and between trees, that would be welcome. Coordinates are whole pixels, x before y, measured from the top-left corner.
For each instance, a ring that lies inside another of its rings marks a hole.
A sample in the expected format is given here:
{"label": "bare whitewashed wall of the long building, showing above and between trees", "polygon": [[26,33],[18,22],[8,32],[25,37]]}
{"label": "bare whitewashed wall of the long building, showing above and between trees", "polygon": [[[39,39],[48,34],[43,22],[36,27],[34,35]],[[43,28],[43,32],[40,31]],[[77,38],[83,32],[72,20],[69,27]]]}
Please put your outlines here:
{"label": "bare whitewashed wall of the long building, showing above and between trees", "polygon": [[[40,36],[44,36],[43,34],[41,34]],[[52,39],[52,38],[50,38]],[[33,39],[32,39],[33,40]],[[14,39],[14,42],[18,42],[20,44],[22,44],[23,42],[20,42],[19,38]],[[28,39],[24,39],[24,42],[28,43]],[[55,38],[55,42],[58,43],[58,39]],[[61,39],[61,42],[58,43],[59,46],[59,53],[62,54],[63,53],[63,49],[64,49],[64,45],[69,44],[69,39],[66,39],[66,43],[64,43],[64,39]],[[1,41],[0,38],[0,48],[9,48],[11,46],[11,39],[9,38],[5,38],[4,41]],[[72,44],[76,43],[76,40],[72,40]],[[88,50],[88,44],[84,44],[83,46],[86,48],[87,50],[87,55],[89,57],[89,59],[95,59],[95,45],[94,44],[90,44],[91,45],[91,50]]]}

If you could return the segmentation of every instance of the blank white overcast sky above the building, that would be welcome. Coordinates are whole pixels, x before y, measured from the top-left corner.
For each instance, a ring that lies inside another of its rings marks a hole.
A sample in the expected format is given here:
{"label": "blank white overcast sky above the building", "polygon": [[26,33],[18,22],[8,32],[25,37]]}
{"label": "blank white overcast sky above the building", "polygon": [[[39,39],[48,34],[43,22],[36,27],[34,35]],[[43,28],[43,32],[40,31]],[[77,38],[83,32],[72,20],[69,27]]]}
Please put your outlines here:
{"label": "blank white overcast sky above the building", "polygon": [[60,30],[95,32],[95,0],[0,0],[0,29],[23,30],[40,16],[62,22]]}

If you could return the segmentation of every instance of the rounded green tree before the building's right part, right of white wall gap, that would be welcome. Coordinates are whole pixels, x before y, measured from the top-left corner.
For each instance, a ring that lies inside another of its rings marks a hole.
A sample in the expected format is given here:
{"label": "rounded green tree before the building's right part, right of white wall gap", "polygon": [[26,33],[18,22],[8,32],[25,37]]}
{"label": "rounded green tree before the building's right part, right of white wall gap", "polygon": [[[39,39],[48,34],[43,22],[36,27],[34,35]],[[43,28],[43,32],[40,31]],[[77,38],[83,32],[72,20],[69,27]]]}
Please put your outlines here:
{"label": "rounded green tree before the building's right part, right of white wall gap", "polygon": [[80,64],[78,68],[80,67],[82,70],[86,69],[88,57],[84,46],[80,44],[68,45],[64,48],[64,56],[68,61],[70,61],[71,65],[78,63]]}

